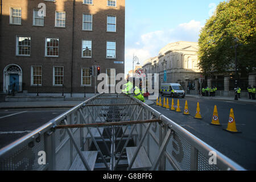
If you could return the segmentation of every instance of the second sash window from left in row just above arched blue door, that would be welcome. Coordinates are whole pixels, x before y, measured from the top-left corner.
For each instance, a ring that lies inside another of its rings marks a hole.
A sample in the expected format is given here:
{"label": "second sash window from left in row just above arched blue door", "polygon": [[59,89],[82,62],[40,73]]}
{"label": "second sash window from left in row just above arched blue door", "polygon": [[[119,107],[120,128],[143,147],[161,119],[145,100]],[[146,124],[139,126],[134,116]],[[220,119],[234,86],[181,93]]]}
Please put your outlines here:
{"label": "second sash window from left in row just above arched blue door", "polygon": [[59,39],[46,38],[46,56],[58,57],[59,56]]}

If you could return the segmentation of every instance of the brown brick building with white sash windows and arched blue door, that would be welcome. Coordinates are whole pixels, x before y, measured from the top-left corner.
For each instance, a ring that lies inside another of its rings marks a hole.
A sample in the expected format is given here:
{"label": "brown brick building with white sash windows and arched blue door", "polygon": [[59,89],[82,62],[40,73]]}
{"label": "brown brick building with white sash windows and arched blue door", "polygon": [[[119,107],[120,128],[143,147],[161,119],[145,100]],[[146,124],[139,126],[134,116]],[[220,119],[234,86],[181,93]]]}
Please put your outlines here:
{"label": "brown brick building with white sash windows and arched blue door", "polygon": [[92,87],[90,68],[125,71],[125,0],[3,0],[1,91],[10,85]]}

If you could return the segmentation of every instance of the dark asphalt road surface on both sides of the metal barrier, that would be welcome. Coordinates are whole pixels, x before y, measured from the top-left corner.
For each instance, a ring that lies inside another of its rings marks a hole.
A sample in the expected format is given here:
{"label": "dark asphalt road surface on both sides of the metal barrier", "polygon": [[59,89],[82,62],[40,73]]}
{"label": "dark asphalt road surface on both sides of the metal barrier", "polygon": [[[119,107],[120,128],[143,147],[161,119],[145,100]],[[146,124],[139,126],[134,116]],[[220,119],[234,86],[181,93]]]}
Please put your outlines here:
{"label": "dark asphalt road surface on both sides of the metal barrier", "polygon": [[[168,98],[171,104],[171,98]],[[256,169],[255,104],[185,97],[184,99],[179,98],[181,111],[184,109],[185,100],[188,101],[190,115],[176,113],[155,105],[151,105],[151,107],[242,167],[249,170]],[[203,119],[193,118],[196,114],[197,102],[200,104]],[[174,98],[174,103],[176,105],[177,98]],[[217,105],[218,117],[222,126],[210,125],[214,105]],[[226,129],[228,125],[230,108],[234,110],[237,130],[242,133],[232,134],[222,130]],[[68,109],[0,110],[0,148],[42,126],[66,110]]]}

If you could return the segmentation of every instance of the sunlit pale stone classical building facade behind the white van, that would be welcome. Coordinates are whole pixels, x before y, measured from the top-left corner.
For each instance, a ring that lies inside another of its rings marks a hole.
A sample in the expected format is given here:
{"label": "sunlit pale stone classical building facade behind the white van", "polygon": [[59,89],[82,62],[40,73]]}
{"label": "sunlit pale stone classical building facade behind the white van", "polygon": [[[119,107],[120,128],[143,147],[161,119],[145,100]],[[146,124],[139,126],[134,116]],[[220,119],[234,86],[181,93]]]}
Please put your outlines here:
{"label": "sunlit pale stone classical building facade behind the white van", "polygon": [[[144,61],[143,68],[145,73],[159,73],[159,85],[163,82],[177,82],[186,90],[197,90],[201,75],[197,50],[196,42],[170,43],[160,49],[158,56]],[[164,72],[167,74],[166,81],[164,81]]]}

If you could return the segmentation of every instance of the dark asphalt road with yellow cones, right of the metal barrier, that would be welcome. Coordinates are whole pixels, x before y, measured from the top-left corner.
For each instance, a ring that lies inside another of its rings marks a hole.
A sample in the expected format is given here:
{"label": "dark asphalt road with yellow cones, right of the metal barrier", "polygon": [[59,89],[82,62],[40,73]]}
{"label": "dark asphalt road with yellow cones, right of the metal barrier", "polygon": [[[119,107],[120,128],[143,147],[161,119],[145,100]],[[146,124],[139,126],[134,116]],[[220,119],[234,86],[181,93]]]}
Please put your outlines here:
{"label": "dark asphalt road with yellow cones, right of the metal barrier", "polygon": [[[170,97],[169,100],[171,107]],[[188,101],[190,115],[184,115],[185,100]],[[182,113],[167,110],[163,107],[152,105],[154,109],[172,119],[184,129],[203,140],[228,158],[234,160],[242,167],[256,169],[256,105],[236,103],[235,101],[204,100],[193,97],[179,98]],[[197,102],[203,119],[195,119]],[[163,103],[163,102],[162,102]],[[177,98],[174,98],[177,104]],[[214,105],[217,106],[221,126],[210,125],[212,122]],[[228,133],[223,130],[228,126],[230,109],[234,110],[237,130],[242,133]]]}

